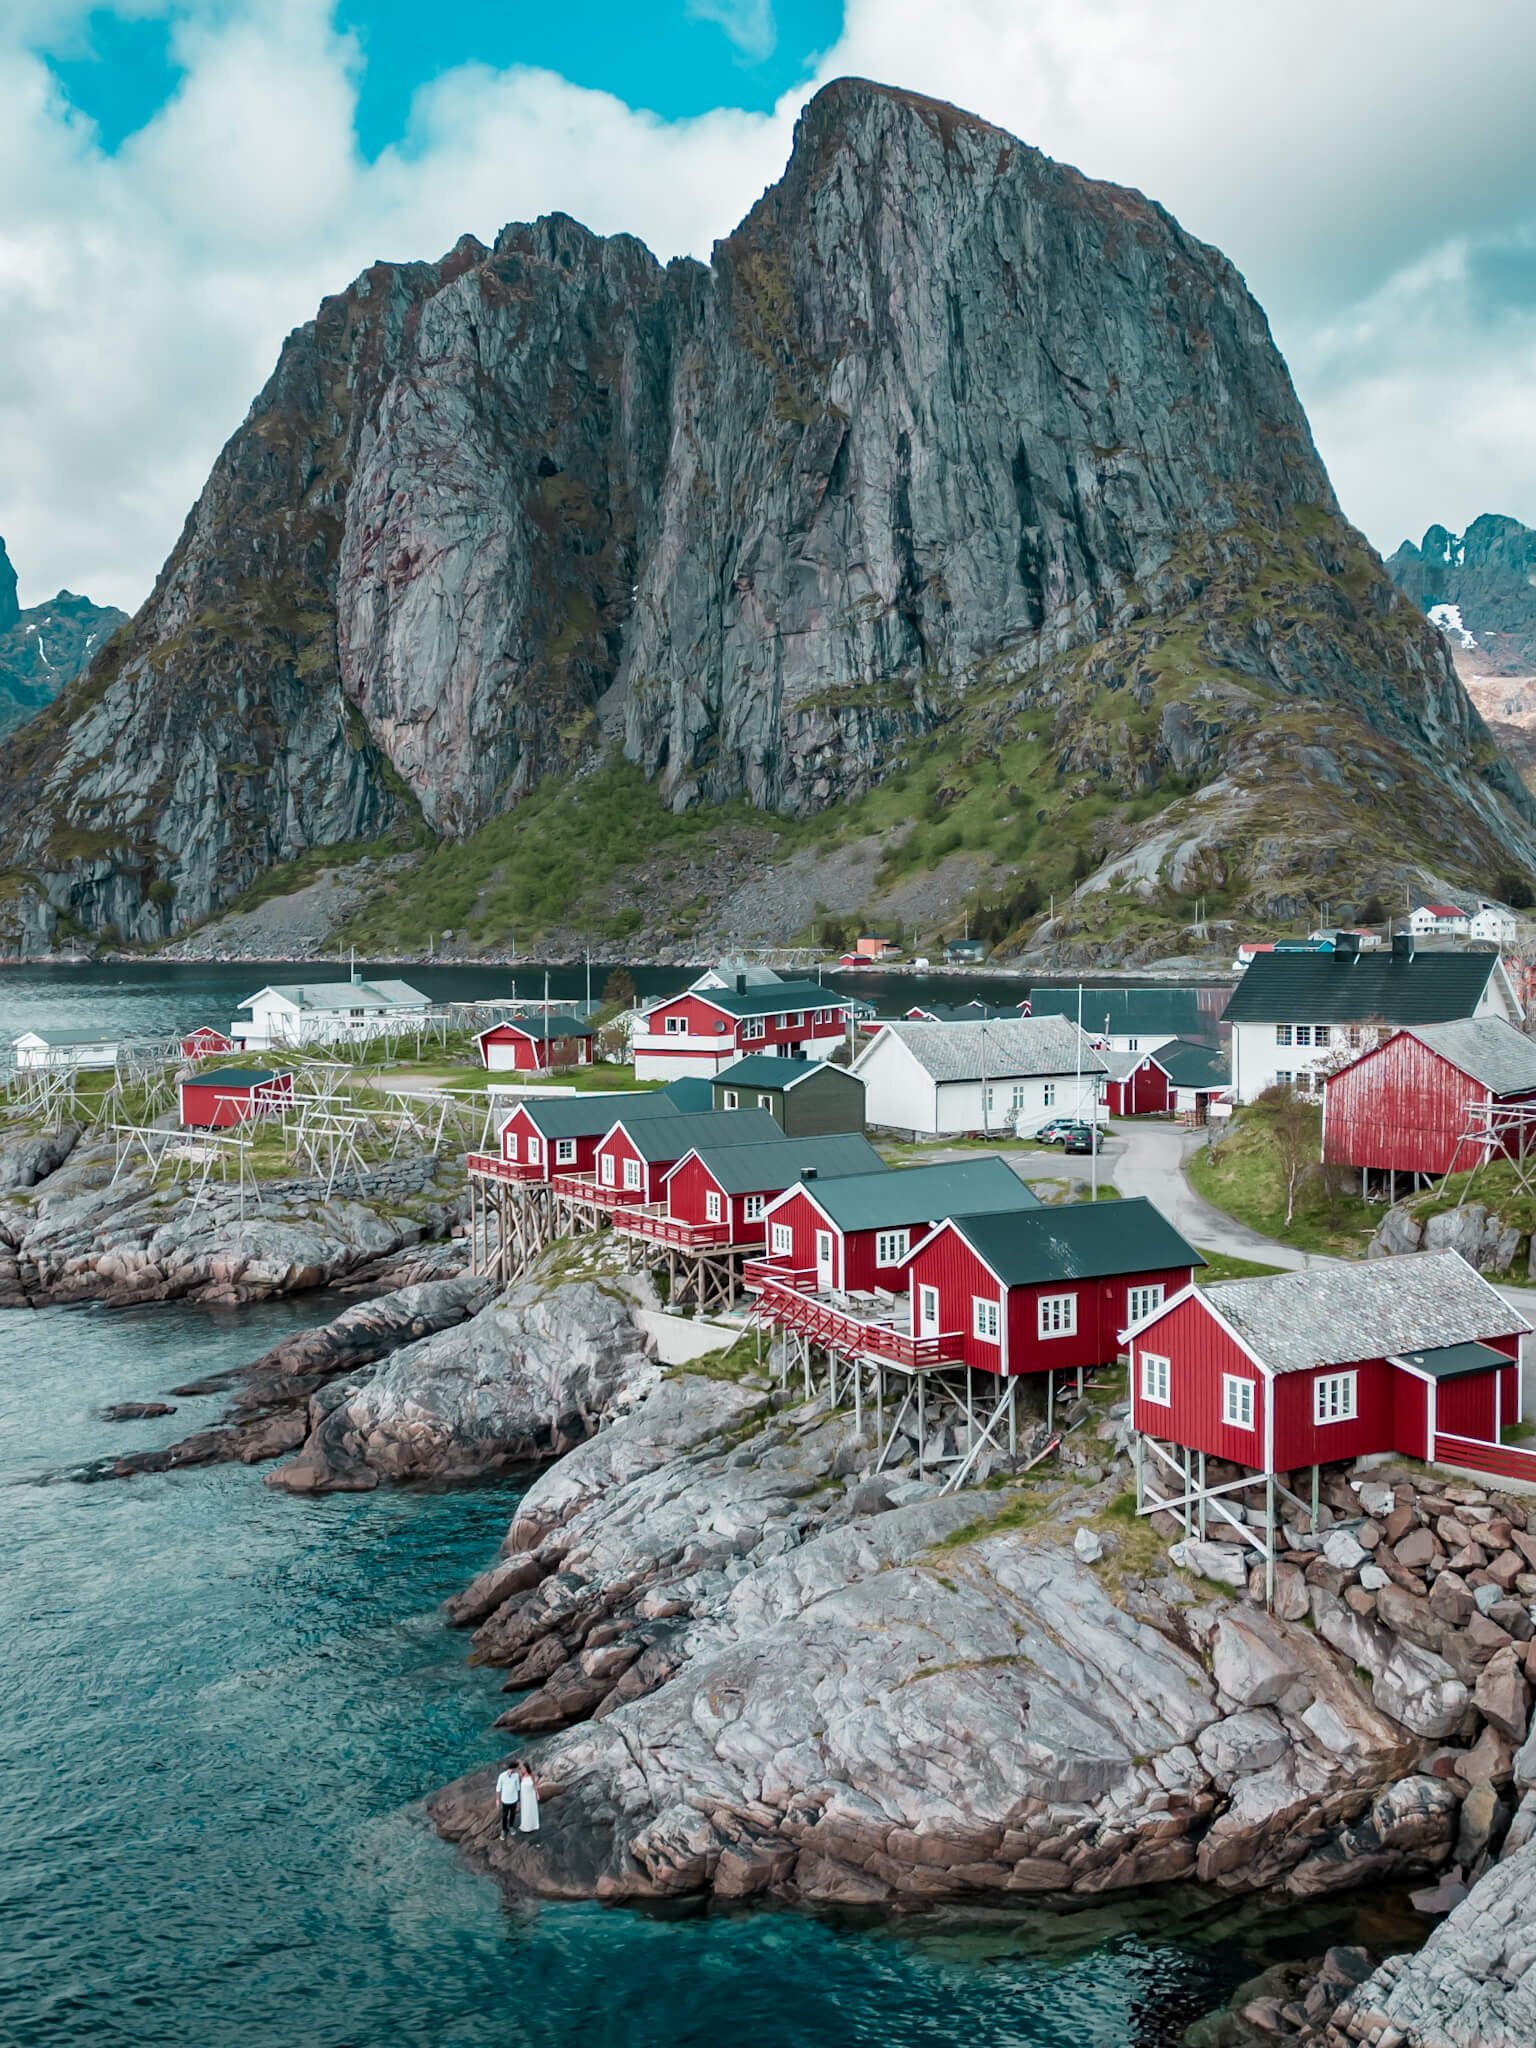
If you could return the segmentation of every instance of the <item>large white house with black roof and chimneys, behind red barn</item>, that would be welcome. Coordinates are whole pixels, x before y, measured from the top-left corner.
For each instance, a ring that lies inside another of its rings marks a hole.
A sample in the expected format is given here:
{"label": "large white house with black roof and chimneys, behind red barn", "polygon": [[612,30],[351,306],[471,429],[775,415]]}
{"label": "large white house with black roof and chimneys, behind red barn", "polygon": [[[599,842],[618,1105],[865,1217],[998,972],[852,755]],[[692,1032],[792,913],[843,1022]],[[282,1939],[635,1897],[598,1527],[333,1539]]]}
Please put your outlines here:
{"label": "large white house with black roof and chimneys, behind red barn", "polygon": [[1409,934],[1391,952],[1262,952],[1227,1001],[1233,1100],[1253,1102],[1276,1085],[1313,1094],[1376,1036],[1452,1018],[1520,1024],[1497,952],[1417,952]]}

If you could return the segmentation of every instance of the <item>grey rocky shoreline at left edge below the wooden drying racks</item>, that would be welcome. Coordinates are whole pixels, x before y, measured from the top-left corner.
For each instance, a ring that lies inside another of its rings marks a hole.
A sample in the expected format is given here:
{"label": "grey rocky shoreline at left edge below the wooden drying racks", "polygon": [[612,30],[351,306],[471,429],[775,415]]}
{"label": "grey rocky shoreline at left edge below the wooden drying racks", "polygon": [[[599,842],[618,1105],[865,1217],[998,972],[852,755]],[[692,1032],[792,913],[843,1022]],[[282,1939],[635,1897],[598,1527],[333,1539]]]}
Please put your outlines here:
{"label": "grey rocky shoreline at left edge below the wooden drying racks", "polygon": [[[49,1163],[63,1153],[49,1171]],[[141,1174],[113,1180],[111,1145],[18,1139],[0,1198],[0,1307],[45,1300],[264,1300],[319,1286],[401,1286],[434,1274],[463,1217],[446,1159],[401,1159],[340,1180],[264,1182],[244,1200]],[[27,1192],[16,1192],[27,1190]],[[449,1257],[457,1270],[459,1257]]]}

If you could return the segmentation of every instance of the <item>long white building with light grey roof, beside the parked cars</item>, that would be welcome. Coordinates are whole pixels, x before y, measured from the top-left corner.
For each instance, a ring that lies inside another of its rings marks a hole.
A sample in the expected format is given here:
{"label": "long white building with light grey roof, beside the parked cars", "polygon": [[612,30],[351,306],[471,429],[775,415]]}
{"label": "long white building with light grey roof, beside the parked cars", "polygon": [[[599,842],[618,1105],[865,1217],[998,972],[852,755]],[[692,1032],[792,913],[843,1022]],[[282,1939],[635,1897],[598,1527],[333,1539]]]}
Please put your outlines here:
{"label": "long white building with light grey roof, beside the parked cars", "polygon": [[885,1024],[852,1071],[864,1122],[889,1130],[1028,1135],[1053,1116],[1104,1118],[1104,1059],[1067,1018]]}

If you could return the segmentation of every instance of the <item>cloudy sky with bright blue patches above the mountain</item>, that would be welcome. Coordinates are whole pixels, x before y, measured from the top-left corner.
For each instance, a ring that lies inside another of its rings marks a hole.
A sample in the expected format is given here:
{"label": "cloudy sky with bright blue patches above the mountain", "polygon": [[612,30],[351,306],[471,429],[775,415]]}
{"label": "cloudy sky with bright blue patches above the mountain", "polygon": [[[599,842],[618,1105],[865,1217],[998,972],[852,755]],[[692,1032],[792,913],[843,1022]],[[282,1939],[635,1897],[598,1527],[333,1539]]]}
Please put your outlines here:
{"label": "cloudy sky with bright blue patches above the mountain", "polygon": [[709,256],[795,115],[954,100],[1221,246],[1382,551],[1536,524],[1530,0],[0,0],[0,535],[135,608],[283,336],[561,209]]}

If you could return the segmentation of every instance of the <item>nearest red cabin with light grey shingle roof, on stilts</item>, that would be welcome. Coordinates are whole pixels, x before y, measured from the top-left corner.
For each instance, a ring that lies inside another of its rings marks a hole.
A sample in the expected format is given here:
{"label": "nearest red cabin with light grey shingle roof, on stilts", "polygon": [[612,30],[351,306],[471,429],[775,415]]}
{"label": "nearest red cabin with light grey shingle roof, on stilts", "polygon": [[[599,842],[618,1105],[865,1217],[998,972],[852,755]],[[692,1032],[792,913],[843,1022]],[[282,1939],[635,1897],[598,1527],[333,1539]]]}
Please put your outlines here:
{"label": "nearest red cabin with light grey shingle roof, on stilts", "polygon": [[1499,1444],[1528,1329],[1458,1251],[1190,1286],[1128,1331],[1130,1421],[1264,1475],[1399,1452],[1536,1477]]}

